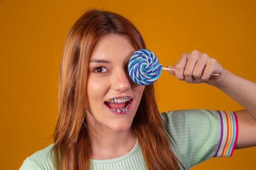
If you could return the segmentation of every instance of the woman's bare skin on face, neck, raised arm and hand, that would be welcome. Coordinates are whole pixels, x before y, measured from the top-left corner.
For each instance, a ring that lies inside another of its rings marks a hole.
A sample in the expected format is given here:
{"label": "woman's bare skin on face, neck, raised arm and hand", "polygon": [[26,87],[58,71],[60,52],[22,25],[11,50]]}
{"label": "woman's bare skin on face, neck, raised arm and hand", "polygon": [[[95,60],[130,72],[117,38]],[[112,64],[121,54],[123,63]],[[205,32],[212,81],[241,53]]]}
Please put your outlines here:
{"label": "woman's bare skin on face, neck, raised arm and hand", "polygon": [[[92,50],[87,86],[92,159],[119,157],[135,145],[131,124],[144,86],[135,84],[127,73],[127,64],[134,52],[128,37],[118,34],[104,35]],[[230,73],[199,51],[184,53],[175,66],[168,67],[175,68],[169,72],[177,79],[216,86],[244,106],[245,110],[236,111],[239,126],[236,148],[256,146],[256,135],[253,135],[256,132],[256,83]],[[213,73],[219,76],[211,76]],[[112,113],[104,105],[107,99],[125,95],[133,98],[126,114]]]}

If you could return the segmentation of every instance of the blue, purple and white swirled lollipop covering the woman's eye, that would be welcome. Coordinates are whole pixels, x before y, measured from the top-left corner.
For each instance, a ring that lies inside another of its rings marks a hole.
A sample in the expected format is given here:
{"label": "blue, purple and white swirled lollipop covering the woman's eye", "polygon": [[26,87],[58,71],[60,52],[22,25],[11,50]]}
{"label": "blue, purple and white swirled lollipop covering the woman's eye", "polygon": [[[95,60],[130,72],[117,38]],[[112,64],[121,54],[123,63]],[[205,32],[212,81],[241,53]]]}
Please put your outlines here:
{"label": "blue, purple and white swirled lollipop covering the woman's eye", "polygon": [[[128,63],[128,73],[131,79],[140,85],[148,85],[157,81],[161,75],[161,70],[175,71],[174,68],[163,68],[156,55],[146,49],[135,51]],[[218,76],[219,74],[212,75]]]}

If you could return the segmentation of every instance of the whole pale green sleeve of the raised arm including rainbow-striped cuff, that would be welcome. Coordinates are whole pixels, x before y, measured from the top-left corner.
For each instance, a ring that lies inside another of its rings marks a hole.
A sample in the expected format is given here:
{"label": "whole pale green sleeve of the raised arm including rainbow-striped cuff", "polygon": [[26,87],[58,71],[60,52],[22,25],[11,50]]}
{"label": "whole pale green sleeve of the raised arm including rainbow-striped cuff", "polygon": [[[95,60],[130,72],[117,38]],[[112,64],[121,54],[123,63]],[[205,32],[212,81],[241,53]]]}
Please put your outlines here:
{"label": "whole pale green sleeve of the raised arm including rainbow-striped cuff", "polygon": [[161,117],[167,135],[184,157],[187,167],[211,157],[232,155],[238,129],[234,112],[176,110],[164,112]]}

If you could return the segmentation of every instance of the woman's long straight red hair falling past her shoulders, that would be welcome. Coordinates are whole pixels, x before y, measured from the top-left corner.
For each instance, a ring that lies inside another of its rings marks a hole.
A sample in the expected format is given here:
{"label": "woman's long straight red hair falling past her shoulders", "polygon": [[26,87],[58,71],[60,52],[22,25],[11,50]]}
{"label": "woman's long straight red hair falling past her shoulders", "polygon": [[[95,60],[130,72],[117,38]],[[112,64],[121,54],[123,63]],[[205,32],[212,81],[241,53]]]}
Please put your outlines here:
{"label": "woman's long straight red hair falling past her shoulders", "polygon": [[[116,13],[94,9],[74,23],[60,68],[59,115],[52,148],[57,170],[90,169],[91,143],[85,114],[88,62],[94,44],[108,33],[127,35],[136,49],[146,49],[136,27]],[[153,84],[145,87],[132,128],[149,170],[180,170],[157,109]]]}

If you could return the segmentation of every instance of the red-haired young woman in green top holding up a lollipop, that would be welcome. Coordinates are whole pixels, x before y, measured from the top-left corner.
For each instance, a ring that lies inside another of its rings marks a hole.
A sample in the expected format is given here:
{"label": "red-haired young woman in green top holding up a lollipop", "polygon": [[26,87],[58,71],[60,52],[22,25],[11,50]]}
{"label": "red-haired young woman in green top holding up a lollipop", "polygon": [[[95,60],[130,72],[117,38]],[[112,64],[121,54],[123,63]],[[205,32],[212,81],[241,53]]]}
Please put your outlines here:
{"label": "red-haired young woman in green top holding up a lollipop", "polygon": [[128,75],[138,49],[146,49],[141,34],[116,13],[90,10],[74,23],[61,61],[54,144],[20,170],[180,170],[256,145],[256,83],[207,54],[185,53],[169,66],[171,74],[216,86],[245,110],[159,114],[153,84],[135,84]]}

